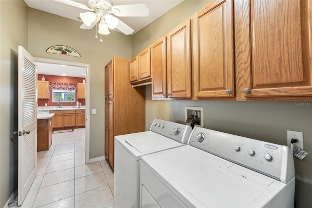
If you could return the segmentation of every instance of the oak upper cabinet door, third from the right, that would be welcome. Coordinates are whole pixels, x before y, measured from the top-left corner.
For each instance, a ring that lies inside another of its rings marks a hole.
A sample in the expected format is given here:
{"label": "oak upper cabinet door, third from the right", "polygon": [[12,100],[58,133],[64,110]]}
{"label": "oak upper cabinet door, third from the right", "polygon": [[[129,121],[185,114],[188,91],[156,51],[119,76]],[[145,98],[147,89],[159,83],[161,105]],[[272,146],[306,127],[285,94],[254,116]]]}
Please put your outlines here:
{"label": "oak upper cabinet door, third from the right", "polygon": [[192,97],[191,20],[186,20],[168,33],[168,97]]}

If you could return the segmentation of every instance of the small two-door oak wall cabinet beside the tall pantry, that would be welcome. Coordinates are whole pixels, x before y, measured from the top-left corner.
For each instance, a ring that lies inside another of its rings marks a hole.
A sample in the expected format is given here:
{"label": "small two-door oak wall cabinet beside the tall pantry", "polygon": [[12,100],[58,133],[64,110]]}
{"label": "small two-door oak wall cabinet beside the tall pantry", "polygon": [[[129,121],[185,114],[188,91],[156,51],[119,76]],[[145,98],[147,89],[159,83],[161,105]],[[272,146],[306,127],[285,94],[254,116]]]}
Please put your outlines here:
{"label": "small two-door oak wall cabinet beside the tall pantry", "polygon": [[137,83],[151,78],[150,47],[145,48],[129,61],[130,83]]}

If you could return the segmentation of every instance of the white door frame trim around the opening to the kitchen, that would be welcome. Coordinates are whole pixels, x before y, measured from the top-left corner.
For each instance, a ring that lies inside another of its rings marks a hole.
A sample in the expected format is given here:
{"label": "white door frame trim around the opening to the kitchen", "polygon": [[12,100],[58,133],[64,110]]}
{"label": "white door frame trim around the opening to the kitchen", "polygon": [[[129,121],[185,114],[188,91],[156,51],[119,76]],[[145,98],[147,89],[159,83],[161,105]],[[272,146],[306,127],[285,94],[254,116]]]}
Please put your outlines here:
{"label": "white door frame trim around the opening to the kitchen", "polygon": [[36,58],[36,62],[72,65],[86,68],[86,164],[90,163],[90,64],[79,62],[67,62],[54,59]]}

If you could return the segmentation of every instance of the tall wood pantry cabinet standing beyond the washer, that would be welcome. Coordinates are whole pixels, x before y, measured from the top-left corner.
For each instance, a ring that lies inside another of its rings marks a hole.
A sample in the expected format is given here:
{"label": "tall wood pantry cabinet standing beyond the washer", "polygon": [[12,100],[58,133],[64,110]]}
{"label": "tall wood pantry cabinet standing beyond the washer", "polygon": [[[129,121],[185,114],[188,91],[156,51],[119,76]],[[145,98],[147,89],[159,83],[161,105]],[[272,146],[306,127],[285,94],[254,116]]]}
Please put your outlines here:
{"label": "tall wood pantry cabinet standing beyond the washer", "polygon": [[105,157],[114,168],[114,137],[145,131],[145,86],[129,83],[129,60],[105,66]]}

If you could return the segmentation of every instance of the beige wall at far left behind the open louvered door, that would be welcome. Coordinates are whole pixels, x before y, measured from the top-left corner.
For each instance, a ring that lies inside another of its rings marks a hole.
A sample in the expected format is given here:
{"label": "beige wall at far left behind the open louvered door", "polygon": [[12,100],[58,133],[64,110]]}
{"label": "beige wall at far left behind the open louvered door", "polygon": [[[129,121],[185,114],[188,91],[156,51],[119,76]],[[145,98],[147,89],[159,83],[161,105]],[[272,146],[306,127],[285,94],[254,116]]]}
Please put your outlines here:
{"label": "beige wall at far left behind the open louvered door", "polygon": [[[14,8],[14,9],[12,9]],[[0,0],[0,207],[17,188],[18,45],[27,49],[27,5],[23,0]]]}

